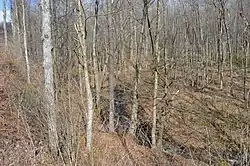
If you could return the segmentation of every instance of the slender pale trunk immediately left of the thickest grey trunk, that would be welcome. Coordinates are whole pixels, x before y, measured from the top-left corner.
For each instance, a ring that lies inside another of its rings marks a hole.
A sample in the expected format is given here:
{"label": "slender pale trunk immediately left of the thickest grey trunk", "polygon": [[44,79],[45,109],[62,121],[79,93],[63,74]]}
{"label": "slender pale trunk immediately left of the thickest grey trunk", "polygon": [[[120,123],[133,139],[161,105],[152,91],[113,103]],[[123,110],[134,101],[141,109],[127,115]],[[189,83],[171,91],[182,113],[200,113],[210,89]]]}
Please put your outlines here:
{"label": "slender pale trunk immediately left of the thickest grey trunk", "polygon": [[28,47],[27,47],[26,12],[25,12],[24,0],[22,0],[22,9],[23,9],[23,47],[24,47],[26,70],[27,70],[26,71],[27,83],[30,84],[30,64],[29,64]]}

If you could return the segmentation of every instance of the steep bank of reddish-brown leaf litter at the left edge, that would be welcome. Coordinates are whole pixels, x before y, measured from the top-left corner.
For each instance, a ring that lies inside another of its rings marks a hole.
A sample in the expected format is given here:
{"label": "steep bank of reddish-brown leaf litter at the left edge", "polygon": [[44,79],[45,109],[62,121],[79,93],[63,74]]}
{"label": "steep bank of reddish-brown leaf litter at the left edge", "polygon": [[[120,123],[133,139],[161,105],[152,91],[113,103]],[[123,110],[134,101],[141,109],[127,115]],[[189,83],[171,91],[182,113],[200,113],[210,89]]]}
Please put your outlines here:
{"label": "steep bank of reddish-brown leaf litter at the left edge", "polygon": [[28,137],[21,112],[9,99],[8,86],[17,74],[15,61],[0,48],[0,166],[40,165],[41,158]]}

